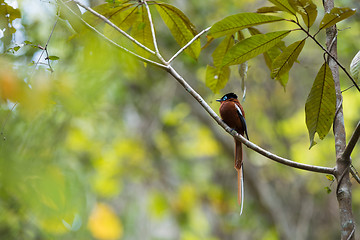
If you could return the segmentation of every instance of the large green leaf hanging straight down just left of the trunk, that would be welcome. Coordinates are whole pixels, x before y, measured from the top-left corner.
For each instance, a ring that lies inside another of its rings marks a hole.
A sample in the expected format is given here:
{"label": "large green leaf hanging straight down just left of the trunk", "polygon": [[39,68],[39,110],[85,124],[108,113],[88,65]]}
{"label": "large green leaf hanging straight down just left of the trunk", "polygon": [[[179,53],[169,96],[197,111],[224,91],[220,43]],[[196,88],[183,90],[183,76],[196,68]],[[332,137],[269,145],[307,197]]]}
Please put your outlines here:
{"label": "large green leaf hanging straight down just left of the trunk", "polygon": [[335,84],[327,63],[320,68],[305,104],[310,148],[316,144],[315,133],[322,140],[329,132],[336,110]]}

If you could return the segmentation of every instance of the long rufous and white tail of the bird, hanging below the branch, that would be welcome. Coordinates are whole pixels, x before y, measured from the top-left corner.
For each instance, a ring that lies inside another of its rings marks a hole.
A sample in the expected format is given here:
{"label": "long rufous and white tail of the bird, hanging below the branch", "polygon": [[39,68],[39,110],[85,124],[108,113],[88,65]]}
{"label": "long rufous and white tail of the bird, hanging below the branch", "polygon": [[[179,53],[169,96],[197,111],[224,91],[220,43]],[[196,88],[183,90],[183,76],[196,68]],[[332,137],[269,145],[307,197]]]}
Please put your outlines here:
{"label": "long rufous and white tail of the bird, hanging below the branch", "polygon": [[243,170],[242,144],[235,139],[235,164],[234,167],[238,175],[238,204],[240,205],[240,215],[244,206],[244,170]]}

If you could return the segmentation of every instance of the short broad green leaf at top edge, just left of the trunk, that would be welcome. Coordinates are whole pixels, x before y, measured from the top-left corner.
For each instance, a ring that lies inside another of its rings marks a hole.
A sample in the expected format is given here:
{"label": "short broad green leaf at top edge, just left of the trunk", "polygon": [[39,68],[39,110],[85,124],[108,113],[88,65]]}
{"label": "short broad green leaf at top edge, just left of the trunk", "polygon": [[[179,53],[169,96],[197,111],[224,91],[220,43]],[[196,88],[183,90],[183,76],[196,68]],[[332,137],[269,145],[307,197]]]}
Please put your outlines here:
{"label": "short broad green leaf at top edge, just left of the trunk", "polygon": [[307,27],[311,27],[317,17],[317,7],[312,0],[289,0],[290,5],[300,13]]}

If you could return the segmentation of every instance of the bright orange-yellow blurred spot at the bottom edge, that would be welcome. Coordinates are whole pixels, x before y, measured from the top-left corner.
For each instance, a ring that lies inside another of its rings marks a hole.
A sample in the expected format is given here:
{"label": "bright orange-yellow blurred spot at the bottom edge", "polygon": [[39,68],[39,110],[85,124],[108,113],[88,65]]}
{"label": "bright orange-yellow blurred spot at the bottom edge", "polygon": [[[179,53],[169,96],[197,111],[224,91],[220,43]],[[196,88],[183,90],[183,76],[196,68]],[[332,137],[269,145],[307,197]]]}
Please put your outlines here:
{"label": "bright orange-yellow blurred spot at the bottom edge", "polygon": [[114,211],[106,204],[98,203],[89,218],[88,228],[96,239],[120,239],[123,226]]}

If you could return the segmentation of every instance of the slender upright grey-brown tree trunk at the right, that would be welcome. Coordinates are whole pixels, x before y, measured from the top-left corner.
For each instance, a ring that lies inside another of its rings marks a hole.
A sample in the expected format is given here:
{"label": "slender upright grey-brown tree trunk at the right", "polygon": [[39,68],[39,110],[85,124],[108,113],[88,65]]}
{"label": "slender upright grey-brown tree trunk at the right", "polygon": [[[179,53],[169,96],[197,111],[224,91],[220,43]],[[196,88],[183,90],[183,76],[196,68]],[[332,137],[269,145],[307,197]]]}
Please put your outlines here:
{"label": "slender upright grey-brown tree trunk at the right", "polygon": [[[334,7],[334,0],[323,1],[325,12],[329,13]],[[336,25],[326,29],[326,47],[332,57],[329,57],[329,67],[333,74],[336,91],[336,106],[333,130],[335,135],[336,172],[338,181],[336,196],[339,203],[341,239],[355,239],[355,221],[352,212],[351,182],[349,176],[350,158],[344,158],[346,147],[346,133],[344,114],[342,109],[342,93],[340,88],[339,65],[337,61],[337,29]]]}

